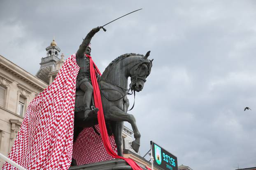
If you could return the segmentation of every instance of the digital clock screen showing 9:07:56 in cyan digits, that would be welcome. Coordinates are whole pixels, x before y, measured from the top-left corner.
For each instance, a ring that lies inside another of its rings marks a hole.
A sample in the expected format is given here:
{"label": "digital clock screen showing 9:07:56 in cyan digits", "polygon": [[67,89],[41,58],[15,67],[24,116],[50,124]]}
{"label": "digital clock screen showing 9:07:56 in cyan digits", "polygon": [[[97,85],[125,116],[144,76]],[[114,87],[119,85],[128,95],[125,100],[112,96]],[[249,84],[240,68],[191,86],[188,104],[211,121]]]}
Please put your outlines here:
{"label": "digital clock screen showing 9:07:56 in cyan digits", "polygon": [[154,165],[164,170],[178,170],[177,157],[170,152],[164,150],[161,146],[153,141],[150,141],[152,147],[152,154],[154,157]]}

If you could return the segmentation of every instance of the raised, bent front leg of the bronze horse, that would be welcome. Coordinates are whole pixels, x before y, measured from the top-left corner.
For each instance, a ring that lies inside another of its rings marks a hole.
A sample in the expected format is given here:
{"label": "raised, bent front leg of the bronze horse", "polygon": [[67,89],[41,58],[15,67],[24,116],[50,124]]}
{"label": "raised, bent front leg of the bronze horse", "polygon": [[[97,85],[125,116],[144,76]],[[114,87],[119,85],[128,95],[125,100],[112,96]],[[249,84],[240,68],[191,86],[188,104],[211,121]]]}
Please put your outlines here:
{"label": "raised, bent front leg of the bronze horse", "polygon": [[111,107],[108,114],[105,114],[107,120],[117,121],[117,122],[129,122],[132,125],[135,141],[132,143],[133,149],[138,152],[140,148],[140,132],[136,125],[135,117],[132,114],[128,114],[118,107]]}

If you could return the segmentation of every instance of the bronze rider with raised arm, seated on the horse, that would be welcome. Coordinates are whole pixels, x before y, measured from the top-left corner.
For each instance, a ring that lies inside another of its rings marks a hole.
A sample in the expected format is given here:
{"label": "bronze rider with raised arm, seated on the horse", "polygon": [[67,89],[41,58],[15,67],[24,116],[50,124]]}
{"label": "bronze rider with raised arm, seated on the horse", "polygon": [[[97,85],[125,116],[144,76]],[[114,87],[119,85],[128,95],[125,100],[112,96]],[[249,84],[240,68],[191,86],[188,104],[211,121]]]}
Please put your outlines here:
{"label": "bronze rider with raised arm, seated on the horse", "polygon": [[91,109],[91,100],[93,94],[93,86],[91,84],[91,74],[90,74],[90,60],[88,56],[91,56],[91,39],[92,37],[100,31],[101,27],[93,28],[85,37],[84,41],[79,46],[77,50],[77,64],[80,67],[79,73],[77,75],[77,89],[84,91],[84,119],[92,114],[98,112],[98,108]]}

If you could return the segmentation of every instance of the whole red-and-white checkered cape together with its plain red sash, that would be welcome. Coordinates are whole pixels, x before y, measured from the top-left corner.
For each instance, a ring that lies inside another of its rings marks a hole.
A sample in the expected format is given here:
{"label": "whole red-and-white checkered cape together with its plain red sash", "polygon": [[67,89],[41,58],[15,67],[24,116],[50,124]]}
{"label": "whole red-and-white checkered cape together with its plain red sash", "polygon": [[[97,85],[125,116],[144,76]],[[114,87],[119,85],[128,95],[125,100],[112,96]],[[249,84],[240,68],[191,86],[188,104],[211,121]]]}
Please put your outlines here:
{"label": "whole red-and-white checkered cape together with its plain red sash", "polygon": [[[79,72],[76,55],[73,54],[65,61],[54,82],[30,102],[9,159],[27,170],[68,170],[73,152],[74,157],[80,158],[77,160],[79,164],[120,158],[126,160],[133,170],[141,170],[132,159],[114,152],[114,137],[107,135],[95,71],[100,73],[90,59],[95,106],[99,108],[96,129],[100,130],[101,137],[92,128],[85,128],[73,148],[76,78]],[[84,145],[86,143],[87,146]],[[89,151],[83,153],[83,148]],[[17,170],[9,163],[5,163],[2,169]]]}

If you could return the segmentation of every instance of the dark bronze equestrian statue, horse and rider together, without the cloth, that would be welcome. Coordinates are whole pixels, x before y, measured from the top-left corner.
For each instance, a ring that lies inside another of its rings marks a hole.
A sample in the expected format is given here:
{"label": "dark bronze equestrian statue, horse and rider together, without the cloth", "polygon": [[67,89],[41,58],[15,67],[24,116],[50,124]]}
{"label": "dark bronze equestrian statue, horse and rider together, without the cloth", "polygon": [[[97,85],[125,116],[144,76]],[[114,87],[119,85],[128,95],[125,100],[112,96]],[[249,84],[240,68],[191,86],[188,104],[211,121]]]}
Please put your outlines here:
{"label": "dark bronze equestrian statue, horse and rider together, without the cloth", "polygon": [[[89,59],[91,55],[91,39],[103,27],[93,28],[85,37],[77,50],[77,64],[80,67],[77,75],[77,89],[74,113],[74,141],[84,127],[94,127],[98,124],[98,108],[93,105],[93,86],[91,83]],[[123,156],[122,131],[123,122],[129,122],[134,132],[133,149],[138,152],[140,147],[140,132],[135,117],[127,113],[129,100],[127,94],[142,91],[146,78],[149,76],[152,61],[147,54],[128,53],[114,59],[102,76],[97,75],[100,88],[102,107],[109,135],[114,135],[117,154]],[[128,86],[128,77],[131,83]]]}

